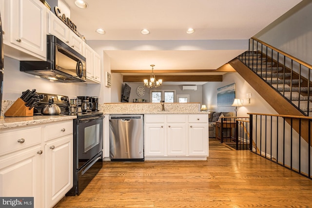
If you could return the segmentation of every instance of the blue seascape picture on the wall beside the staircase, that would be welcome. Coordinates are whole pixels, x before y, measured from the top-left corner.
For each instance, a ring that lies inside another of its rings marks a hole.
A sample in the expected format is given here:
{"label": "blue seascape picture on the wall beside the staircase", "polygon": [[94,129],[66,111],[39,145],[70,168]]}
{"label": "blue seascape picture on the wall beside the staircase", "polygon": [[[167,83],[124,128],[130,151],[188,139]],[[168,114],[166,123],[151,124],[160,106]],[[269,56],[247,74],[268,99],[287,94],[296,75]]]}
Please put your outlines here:
{"label": "blue seascape picture on the wall beside the staircase", "polygon": [[217,106],[232,106],[235,99],[235,83],[217,89]]}

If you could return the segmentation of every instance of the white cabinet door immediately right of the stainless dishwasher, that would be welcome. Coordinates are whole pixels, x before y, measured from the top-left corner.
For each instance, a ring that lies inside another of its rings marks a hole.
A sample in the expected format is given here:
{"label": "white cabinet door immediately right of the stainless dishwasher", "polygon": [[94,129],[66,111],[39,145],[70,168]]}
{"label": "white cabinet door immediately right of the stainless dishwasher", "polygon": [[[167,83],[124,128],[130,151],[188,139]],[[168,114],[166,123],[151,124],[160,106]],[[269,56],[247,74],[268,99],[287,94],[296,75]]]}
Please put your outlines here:
{"label": "white cabinet door immediately right of the stainless dishwasher", "polygon": [[165,128],[161,123],[145,124],[145,156],[165,155]]}

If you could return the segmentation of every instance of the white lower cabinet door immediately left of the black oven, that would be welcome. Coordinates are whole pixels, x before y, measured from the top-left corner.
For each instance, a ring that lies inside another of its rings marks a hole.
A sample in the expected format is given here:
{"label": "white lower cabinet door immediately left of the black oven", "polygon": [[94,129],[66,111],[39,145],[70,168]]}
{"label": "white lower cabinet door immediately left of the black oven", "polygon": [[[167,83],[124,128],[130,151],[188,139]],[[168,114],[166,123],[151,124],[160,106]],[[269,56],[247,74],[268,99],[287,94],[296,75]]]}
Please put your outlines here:
{"label": "white lower cabinet door immediately left of the black oven", "polygon": [[53,207],[73,187],[73,134],[45,145],[45,207]]}

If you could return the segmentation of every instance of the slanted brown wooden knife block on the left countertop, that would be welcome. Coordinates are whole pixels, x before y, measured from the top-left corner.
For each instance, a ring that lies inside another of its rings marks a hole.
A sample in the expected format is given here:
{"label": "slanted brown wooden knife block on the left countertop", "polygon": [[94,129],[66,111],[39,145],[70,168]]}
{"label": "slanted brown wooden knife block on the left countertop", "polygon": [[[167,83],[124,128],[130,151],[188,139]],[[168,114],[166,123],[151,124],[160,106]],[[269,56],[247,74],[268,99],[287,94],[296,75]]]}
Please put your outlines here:
{"label": "slanted brown wooden knife block on the left countertop", "polygon": [[29,107],[25,106],[25,102],[19,97],[13,105],[4,113],[7,117],[25,117],[33,116],[34,108],[29,110]]}

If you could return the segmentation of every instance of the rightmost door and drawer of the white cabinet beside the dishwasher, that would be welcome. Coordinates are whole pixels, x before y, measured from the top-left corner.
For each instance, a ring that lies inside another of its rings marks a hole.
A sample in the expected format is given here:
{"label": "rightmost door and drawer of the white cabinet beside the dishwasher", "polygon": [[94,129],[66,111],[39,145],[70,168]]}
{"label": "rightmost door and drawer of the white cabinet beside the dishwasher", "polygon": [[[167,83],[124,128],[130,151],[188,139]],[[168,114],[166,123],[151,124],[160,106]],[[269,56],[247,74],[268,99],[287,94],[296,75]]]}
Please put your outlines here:
{"label": "rightmost door and drawer of the white cabinet beside the dishwasher", "polygon": [[208,115],[190,114],[188,121],[189,155],[208,155]]}

